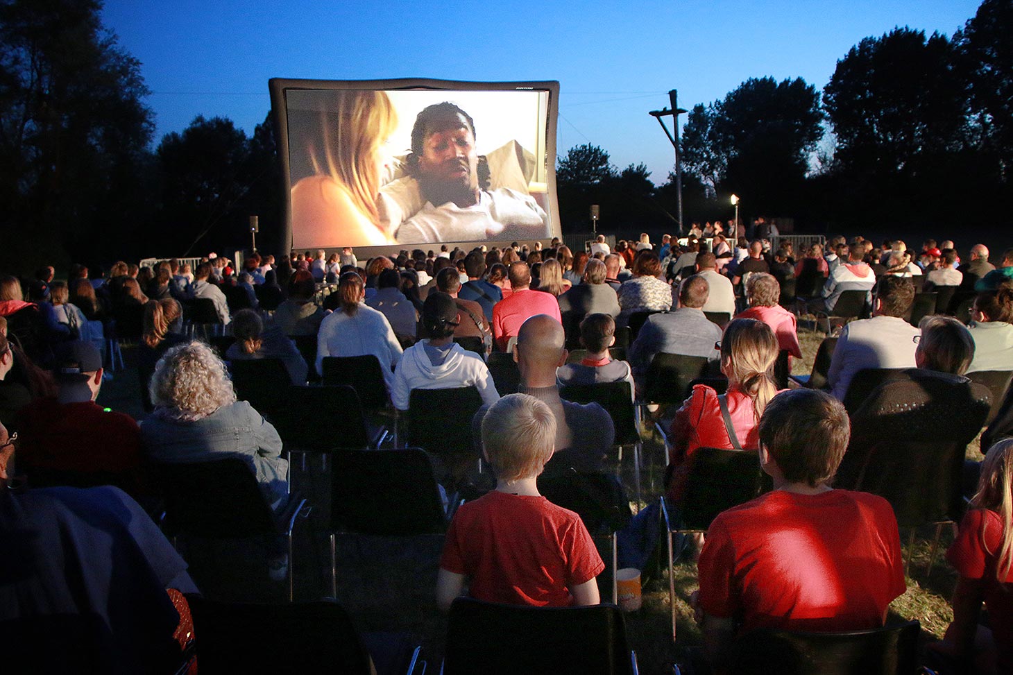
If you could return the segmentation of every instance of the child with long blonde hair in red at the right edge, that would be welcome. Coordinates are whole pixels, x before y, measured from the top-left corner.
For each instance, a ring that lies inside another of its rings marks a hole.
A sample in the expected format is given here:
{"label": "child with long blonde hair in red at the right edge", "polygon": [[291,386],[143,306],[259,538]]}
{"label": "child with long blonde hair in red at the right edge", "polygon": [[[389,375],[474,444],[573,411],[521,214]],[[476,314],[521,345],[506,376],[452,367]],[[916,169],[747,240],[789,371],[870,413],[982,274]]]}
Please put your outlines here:
{"label": "child with long blonde hair in red at the right edge", "polygon": [[[943,642],[932,648],[956,658],[967,672],[1013,672],[1011,493],[1013,439],[1006,439],[986,454],[978,494],[946,552],[960,579],[953,592],[953,622]],[[991,629],[978,622],[983,602]]]}

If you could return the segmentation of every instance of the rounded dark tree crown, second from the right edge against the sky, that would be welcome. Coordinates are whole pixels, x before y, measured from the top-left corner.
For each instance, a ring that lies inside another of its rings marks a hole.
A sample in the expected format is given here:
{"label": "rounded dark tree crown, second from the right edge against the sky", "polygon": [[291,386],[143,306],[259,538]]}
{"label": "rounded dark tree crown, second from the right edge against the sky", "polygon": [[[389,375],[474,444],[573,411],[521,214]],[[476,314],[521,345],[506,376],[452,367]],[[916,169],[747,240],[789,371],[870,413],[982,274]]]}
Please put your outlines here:
{"label": "rounded dark tree crown, second from the right edge against the sky", "polygon": [[966,138],[966,78],[939,33],[904,27],[864,39],[824,91],[836,156],[852,172],[910,175]]}

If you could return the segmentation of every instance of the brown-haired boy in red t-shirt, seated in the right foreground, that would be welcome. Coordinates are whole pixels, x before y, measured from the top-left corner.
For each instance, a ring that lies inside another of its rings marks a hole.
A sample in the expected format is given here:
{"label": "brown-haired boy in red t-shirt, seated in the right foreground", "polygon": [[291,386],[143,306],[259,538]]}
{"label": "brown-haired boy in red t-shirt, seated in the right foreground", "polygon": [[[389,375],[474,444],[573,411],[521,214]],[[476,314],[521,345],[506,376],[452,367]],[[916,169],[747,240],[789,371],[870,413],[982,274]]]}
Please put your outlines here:
{"label": "brown-haired boy in red t-shirt, seated in the right foreground", "polygon": [[693,601],[715,672],[736,634],[879,627],[905,592],[889,504],[829,484],[849,436],[844,406],[822,391],[784,391],[764,409],[760,462],[774,490],[714,519],[698,562]]}

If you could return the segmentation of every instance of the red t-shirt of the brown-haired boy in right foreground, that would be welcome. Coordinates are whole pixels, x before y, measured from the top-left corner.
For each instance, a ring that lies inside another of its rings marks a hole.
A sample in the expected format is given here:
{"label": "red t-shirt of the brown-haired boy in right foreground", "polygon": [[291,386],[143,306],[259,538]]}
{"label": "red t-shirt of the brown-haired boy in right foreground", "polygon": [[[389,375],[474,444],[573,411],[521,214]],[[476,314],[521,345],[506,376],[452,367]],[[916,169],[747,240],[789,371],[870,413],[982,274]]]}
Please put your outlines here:
{"label": "red t-shirt of the brown-haired boy in right foreground", "polygon": [[901,537],[886,500],[832,490],[774,491],[711,523],[697,564],[700,606],[739,632],[882,625],[905,592]]}

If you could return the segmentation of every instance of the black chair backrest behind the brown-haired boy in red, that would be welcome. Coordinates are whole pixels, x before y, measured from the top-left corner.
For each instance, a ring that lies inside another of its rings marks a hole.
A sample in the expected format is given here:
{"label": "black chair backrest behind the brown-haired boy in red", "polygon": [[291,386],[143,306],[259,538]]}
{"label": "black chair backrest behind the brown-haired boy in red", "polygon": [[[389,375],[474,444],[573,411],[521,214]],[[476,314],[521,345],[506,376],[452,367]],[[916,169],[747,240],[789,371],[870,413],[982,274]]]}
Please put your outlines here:
{"label": "black chair backrest behind the brown-haired boy in red", "polygon": [[915,675],[918,621],[850,632],[754,630],[734,647],[732,672],[780,675]]}

